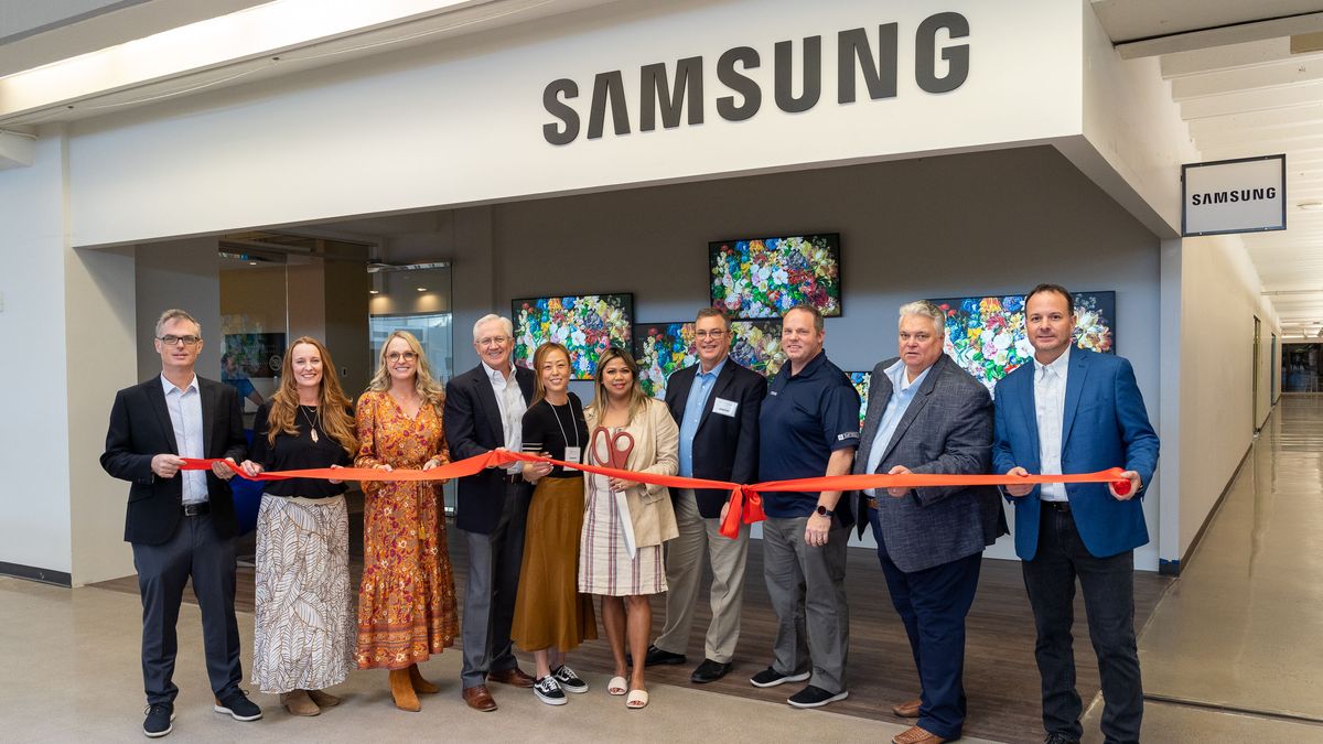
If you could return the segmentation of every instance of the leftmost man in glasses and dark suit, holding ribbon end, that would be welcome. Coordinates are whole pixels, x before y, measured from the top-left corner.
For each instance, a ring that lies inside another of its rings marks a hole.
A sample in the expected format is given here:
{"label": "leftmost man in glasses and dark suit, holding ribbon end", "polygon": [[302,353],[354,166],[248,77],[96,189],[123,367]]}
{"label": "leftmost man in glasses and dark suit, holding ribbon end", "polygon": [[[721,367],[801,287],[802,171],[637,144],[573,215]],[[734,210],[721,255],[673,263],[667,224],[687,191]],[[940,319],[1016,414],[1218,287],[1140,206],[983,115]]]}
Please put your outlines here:
{"label": "leftmost man in glasses and dark suit, holding ribbon end", "polygon": [[175,673],[184,584],[192,577],[202,612],[206,674],[214,710],[235,720],[262,718],[239,690],[239,631],[234,620],[234,536],[238,520],[233,471],[180,471],[192,458],[243,459],[243,417],[234,388],[193,373],[202,328],[188,312],[167,310],[156,322],[161,373],[115,395],[101,466],[130,481],[124,540],[134,547],[143,597],[143,732],[165,736],[175,718]]}

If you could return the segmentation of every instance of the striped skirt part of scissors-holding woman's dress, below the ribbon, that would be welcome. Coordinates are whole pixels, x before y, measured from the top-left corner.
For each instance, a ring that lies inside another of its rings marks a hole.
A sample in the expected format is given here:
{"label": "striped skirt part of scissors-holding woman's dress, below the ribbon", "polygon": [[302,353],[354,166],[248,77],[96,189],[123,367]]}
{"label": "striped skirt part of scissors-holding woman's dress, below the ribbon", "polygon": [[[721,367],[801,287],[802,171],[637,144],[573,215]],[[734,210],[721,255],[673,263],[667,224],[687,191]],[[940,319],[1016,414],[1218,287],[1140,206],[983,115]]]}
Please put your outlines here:
{"label": "striped skirt part of scissors-holding woman's dress, below the ribbon", "polygon": [[662,545],[639,548],[630,559],[615,494],[601,475],[585,475],[585,479],[589,487],[579,537],[579,592],[609,597],[665,592]]}

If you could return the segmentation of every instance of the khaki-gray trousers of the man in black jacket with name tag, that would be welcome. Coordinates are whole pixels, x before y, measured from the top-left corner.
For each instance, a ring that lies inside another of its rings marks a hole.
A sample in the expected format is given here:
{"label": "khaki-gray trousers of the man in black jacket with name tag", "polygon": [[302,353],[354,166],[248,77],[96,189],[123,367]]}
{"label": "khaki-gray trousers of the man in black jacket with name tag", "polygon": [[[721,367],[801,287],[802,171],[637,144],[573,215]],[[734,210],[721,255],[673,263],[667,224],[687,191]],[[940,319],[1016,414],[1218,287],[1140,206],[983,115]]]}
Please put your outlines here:
{"label": "khaki-gray trousers of the man in black jacket with name tag", "polygon": [[689,647],[693,608],[699,601],[703,563],[712,563],[712,622],[704,641],[706,658],[728,663],[740,642],[740,609],[744,605],[744,572],[749,557],[749,526],[740,526],[734,540],[720,532],[720,519],[704,519],[693,491],[677,491],[675,520],[680,536],[665,544],[665,628],[656,647],[683,654]]}

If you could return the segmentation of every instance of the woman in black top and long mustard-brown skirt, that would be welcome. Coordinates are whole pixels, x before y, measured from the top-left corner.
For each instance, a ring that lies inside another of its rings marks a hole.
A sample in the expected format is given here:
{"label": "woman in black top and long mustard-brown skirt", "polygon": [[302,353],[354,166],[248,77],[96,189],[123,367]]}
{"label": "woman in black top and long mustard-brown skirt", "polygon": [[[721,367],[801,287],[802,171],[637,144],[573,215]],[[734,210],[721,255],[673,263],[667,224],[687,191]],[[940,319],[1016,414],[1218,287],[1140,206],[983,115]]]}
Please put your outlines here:
{"label": "woman in black top and long mustard-brown skirt", "polygon": [[[570,352],[546,343],[533,353],[537,375],[533,402],[524,413],[524,450],[566,462],[582,462],[587,447],[583,405],[569,392]],[[524,532],[524,563],[511,639],[533,653],[533,692],[549,706],[564,706],[565,692],[587,692],[587,683],[565,665],[565,653],[597,638],[591,597],[578,593],[578,544],[583,527],[583,474],[525,463],[524,479],[536,483]]]}

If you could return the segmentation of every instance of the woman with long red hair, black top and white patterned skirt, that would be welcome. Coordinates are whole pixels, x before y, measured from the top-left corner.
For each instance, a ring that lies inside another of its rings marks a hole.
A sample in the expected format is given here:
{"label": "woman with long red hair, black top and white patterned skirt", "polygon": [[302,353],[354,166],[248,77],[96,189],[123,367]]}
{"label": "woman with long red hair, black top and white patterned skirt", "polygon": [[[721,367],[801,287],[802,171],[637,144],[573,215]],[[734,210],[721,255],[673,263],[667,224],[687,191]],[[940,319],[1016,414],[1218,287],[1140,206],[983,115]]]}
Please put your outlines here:
{"label": "woman with long red hair, black top and white patterned skirt", "polygon": [[[328,372],[323,372],[328,371]],[[262,404],[243,471],[344,467],[359,449],[331,353],[303,336],[284,355],[280,389]],[[267,481],[257,519],[253,683],[294,715],[339,698],[323,688],[353,666],[349,516],[343,481]]]}

